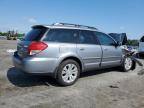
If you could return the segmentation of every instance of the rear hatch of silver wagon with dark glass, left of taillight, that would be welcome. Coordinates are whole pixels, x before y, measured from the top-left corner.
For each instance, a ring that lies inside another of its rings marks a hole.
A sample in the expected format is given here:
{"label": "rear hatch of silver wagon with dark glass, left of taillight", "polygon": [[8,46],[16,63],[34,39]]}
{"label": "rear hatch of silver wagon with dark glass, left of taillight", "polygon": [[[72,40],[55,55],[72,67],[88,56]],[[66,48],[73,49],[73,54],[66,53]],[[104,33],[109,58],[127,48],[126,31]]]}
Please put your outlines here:
{"label": "rear hatch of silver wagon with dark glass, left of taillight", "polygon": [[48,28],[44,26],[33,26],[32,29],[24,36],[24,38],[17,44],[17,52],[20,58],[29,55],[29,46],[32,42],[39,42]]}

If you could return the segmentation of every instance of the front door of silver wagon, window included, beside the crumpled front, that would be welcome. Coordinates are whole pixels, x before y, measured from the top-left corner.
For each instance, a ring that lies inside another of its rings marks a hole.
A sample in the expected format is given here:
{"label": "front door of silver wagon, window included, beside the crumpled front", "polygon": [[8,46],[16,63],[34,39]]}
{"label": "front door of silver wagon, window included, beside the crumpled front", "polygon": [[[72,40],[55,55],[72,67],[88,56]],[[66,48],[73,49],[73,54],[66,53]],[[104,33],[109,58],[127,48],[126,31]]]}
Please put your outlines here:
{"label": "front door of silver wagon, window included, beside the crumpled front", "polygon": [[101,32],[95,32],[97,39],[102,47],[102,67],[120,65],[122,59],[122,50],[116,46],[116,42],[109,35]]}

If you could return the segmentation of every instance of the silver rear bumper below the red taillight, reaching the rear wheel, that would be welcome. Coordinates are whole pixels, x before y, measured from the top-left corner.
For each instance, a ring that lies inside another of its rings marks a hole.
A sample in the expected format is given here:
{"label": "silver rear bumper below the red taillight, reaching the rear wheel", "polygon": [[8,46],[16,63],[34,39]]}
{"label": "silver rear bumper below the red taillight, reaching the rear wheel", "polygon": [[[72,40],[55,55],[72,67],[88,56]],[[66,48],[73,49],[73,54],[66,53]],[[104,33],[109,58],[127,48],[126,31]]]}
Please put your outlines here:
{"label": "silver rear bumper below the red taillight, reaching the rear wheel", "polygon": [[57,67],[56,58],[26,57],[21,59],[13,55],[13,64],[17,69],[31,74],[53,74]]}

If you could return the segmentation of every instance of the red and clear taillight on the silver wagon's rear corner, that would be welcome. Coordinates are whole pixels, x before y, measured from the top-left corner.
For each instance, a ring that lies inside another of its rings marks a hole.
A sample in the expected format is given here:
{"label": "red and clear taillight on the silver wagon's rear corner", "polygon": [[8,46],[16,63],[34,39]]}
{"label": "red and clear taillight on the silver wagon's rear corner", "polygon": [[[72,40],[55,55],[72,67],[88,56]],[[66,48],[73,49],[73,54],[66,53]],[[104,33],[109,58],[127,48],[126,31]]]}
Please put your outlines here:
{"label": "red and clear taillight on the silver wagon's rear corner", "polygon": [[29,55],[37,54],[48,47],[44,42],[32,42],[28,47]]}

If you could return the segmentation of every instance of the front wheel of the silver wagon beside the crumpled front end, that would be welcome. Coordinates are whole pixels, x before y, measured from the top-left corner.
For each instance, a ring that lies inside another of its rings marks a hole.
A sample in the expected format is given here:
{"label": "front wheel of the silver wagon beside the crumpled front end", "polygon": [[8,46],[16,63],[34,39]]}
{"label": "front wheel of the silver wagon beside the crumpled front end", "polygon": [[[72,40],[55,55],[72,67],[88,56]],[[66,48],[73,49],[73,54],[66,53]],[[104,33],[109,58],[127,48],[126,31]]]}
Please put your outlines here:
{"label": "front wheel of the silver wagon beside the crumpled front end", "polygon": [[123,72],[128,72],[133,67],[133,60],[130,57],[125,57],[121,66]]}

